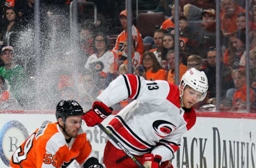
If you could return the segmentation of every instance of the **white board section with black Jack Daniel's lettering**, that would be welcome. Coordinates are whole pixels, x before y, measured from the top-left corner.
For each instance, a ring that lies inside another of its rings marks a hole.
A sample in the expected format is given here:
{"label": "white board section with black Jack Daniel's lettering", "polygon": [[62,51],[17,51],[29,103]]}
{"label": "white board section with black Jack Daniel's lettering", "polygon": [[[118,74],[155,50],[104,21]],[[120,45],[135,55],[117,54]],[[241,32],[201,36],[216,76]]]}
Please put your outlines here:
{"label": "white board section with black Jack Daniel's lettering", "polygon": [[256,165],[255,119],[197,117],[181,139],[174,167],[247,167]]}

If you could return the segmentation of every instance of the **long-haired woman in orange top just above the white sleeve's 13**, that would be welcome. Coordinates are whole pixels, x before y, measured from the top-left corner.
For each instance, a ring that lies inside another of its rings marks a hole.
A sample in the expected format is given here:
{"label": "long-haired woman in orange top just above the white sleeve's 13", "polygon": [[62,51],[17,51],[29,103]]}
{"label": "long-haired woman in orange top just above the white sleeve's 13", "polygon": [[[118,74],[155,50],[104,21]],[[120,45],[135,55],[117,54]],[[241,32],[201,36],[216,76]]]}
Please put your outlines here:
{"label": "long-haired woman in orange top just above the white sleeve's 13", "polygon": [[154,53],[146,51],[142,58],[147,80],[166,80],[167,73],[161,68]]}

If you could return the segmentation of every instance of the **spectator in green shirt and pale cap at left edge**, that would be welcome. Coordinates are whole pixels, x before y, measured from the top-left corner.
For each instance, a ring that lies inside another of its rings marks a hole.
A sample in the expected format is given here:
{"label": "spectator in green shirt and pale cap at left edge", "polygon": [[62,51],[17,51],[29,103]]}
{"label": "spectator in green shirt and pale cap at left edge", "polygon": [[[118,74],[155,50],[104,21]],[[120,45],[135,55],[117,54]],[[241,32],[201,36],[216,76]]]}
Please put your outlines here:
{"label": "spectator in green shirt and pale cap at left edge", "polygon": [[23,106],[27,102],[29,95],[26,92],[28,79],[25,70],[22,66],[17,65],[13,61],[14,49],[12,46],[5,46],[2,49],[1,59],[4,61],[4,66],[0,68],[0,75],[10,83],[10,93],[18,100]]}

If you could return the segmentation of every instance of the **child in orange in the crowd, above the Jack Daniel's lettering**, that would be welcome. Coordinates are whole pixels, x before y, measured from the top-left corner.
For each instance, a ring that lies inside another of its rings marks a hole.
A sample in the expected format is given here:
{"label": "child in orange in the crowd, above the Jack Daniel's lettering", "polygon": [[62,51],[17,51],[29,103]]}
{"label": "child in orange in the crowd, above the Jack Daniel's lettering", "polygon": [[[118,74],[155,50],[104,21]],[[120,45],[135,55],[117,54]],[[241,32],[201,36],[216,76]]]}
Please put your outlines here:
{"label": "child in orange in the crowd, above the Jack Daniel's lettering", "polygon": [[[246,109],[246,73],[244,69],[233,70],[232,79],[235,84],[235,93],[233,94],[233,101],[231,110],[239,111]],[[234,89],[233,89],[234,90]],[[250,87],[250,102],[255,101],[255,93]]]}

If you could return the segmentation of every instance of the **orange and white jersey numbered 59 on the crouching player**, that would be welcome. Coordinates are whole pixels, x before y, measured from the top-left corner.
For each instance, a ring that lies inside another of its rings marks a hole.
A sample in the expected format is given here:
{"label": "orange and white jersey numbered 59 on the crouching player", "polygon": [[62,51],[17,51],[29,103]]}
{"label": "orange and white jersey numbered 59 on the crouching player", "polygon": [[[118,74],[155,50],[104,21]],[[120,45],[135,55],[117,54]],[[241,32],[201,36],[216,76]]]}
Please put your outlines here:
{"label": "orange and white jersey numbered 59 on the crouching player", "polygon": [[[48,123],[38,128],[11,157],[11,167],[53,168],[67,167],[74,159],[83,164],[91,154],[90,142],[81,130],[67,144],[57,123]],[[21,166],[20,166],[20,165]]]}

